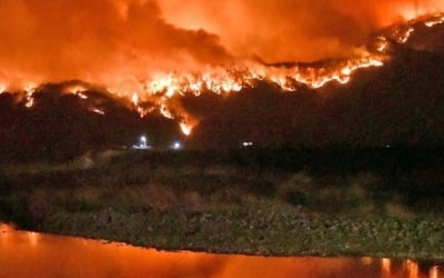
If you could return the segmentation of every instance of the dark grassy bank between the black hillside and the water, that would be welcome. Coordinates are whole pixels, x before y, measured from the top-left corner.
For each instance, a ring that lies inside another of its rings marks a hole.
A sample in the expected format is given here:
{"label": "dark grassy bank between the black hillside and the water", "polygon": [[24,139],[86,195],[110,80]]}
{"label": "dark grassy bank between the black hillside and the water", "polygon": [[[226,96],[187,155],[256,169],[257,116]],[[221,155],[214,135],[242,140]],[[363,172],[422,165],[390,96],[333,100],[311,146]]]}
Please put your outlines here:
{"label": "dark grassy bank between the black hillside and the water", "polygon": [[8,166],[0,219],[160,249],[444,259],[440,159],[250,150]]}

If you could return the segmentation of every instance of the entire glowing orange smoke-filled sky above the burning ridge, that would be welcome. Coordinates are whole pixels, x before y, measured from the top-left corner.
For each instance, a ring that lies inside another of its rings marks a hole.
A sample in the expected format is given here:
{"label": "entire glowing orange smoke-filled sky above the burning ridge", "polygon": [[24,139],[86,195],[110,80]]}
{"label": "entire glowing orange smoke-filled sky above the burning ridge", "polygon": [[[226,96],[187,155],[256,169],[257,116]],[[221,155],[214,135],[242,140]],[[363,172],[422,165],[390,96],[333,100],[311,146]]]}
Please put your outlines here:
{"label": "entire glowing orange smoke-filled sky above the burning ridge", "polygon": [[[443,8],[428,0],[420,12]],[[411,0],[1,0],[0,82],[107,85],[253,57],[341,57],[412,12]]]}

